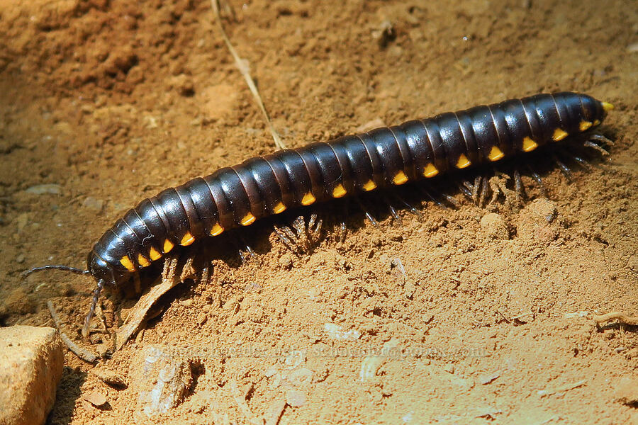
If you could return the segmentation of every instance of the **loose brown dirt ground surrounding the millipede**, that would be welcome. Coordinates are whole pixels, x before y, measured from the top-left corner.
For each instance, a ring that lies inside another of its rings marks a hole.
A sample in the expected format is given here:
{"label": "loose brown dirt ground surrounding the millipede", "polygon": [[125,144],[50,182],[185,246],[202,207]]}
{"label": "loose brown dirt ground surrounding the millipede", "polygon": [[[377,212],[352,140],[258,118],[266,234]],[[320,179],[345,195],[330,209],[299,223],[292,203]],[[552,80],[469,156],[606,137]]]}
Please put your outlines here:
{"label": "loose brown dirt ground surrounding the millipede", "polygon": [[[246,423],[236,384],[254,416],[305,395],[280,424],[636,423],[636,329],[593,316],[638,313],[638,9],[343,3],[233,1],[225,27],[287,145],[560,89],[615,103],[612,156],[572,184],[552,172],[552,200],[522,212],[427,205],[421,221],[359,226],[301,258],[271,236],[257,259],[180,285],[99,368],[126,375],[148,344],[197,359],[188,397],[157,422]],[[396,39],[382,47],[385,21]],[[93,283],[21,271],[82,266],[141,198],[273,149],[206,1],[1,0],[0,94],[1,320],[51,325],[53,300],[77,341]],[[26,191],[43,183],[60,193]],[[396,349],[362,382],[365,350],[384,346]],[[66,364],[50,423],[132,419],[130,387]],[[83,401],[95,391],[107,407]]]}

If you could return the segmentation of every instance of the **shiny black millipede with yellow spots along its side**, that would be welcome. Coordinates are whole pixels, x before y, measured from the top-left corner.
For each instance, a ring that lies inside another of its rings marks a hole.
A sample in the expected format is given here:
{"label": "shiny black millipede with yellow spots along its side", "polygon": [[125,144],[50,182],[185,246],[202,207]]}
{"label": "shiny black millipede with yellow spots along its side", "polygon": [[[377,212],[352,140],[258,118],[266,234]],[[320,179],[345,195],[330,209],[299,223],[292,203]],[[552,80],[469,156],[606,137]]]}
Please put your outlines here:
{"label": "shiny black millipede with yellow spots along its side", "polygon": [[142,200],[93,246],[86,270],[26,273],[54,269],[96,280],[86,336],[101,290],[121,287],[176,246],[291,208],[532,152],[597,127],[612,108],[586,94],[537,94],[253,157]]}

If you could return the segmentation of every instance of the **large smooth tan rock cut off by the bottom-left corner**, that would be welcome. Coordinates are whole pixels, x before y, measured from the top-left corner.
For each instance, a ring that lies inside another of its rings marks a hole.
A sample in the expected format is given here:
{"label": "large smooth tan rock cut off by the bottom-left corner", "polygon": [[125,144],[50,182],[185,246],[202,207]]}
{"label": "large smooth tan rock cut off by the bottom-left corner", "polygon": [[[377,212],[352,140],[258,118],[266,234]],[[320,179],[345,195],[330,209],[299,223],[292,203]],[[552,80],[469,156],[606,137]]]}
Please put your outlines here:
{"label": "large smooth tan rock cut off by the bottom-left corner", "polygon": [[64,364],[65,347],[55,329],[0,329],[0,424],[44,424]]}

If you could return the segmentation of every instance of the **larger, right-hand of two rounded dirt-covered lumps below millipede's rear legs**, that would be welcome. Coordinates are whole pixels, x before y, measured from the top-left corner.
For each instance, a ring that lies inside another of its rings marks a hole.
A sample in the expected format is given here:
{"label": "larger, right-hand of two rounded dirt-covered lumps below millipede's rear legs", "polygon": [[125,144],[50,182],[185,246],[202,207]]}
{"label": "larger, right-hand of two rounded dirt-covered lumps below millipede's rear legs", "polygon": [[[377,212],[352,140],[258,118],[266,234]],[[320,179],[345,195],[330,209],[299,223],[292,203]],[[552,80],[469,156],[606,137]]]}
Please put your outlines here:
{"label": "larger, right-hand of two rounded dirt-covered lumps below millipede's rear legs", "polygon": [[548,199],[537,199],[523,208],[519,215],[517,234],[521,239],[549,243],[560,232],[556,203]]}

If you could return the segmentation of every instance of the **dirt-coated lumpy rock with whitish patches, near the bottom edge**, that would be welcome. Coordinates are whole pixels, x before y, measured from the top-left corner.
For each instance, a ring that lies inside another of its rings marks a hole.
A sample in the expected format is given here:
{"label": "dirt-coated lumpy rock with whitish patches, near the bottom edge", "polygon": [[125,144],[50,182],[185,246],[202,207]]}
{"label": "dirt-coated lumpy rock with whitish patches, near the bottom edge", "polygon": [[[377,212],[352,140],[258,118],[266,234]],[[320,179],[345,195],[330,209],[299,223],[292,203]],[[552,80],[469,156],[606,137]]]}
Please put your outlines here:
{"label": "dirt-coated lumpy rock with whitish patches, near the bottom edge", "polygon": [[129,390],[137,396],[138,419],[166,413],[181,403],[193,385],[190,361],[165,346],[145,346],[133,356],[129,382]]}

